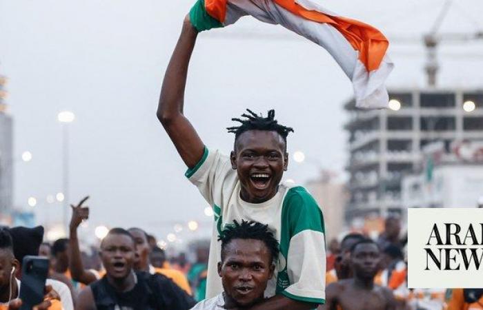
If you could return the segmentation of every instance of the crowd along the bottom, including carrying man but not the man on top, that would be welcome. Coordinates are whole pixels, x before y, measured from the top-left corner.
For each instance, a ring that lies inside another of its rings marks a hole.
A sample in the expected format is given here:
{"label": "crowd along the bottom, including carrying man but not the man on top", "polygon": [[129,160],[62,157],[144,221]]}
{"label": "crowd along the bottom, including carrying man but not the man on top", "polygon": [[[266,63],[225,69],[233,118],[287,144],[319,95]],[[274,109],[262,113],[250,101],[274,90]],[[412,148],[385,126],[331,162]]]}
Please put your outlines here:
{"label": "crowd along the bottom, including carrying man but not the man on top", "polygon": [[[43,242],[42,227],[0,229],[0,309],[21,307],[26,256],[50,261],[45,300],[37,309],[257,309],[266,300],[282,251],[268,225],[248,220],[226,225],[218,240],[223,289],[207,298],[206,253],[200,249],[194,262],[184,255],[169,259],[140,228],[110,229],[98,249],[101,264],[86,259],[77,239],[79,224],[88,218],[85,201],[72,206],[69,238],[52,244]],[[408,289],[400,229],[400,219],[390,216],[376,240],[358,232],[332,240],[324,302],[313,303],[313,309],[482,309],[482,289]]]}

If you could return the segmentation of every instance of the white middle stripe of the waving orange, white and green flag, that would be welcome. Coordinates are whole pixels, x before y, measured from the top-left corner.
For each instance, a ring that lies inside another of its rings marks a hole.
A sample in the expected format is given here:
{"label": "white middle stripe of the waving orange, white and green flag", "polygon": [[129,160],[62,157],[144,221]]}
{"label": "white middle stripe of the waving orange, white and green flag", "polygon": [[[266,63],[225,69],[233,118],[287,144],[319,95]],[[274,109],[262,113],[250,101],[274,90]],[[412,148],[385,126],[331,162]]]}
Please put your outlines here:
{"label": "white middle stripe of the waving orange, white and green flag", "polygon": [[[297,0],[297,3],[309,10],[337,16],[309,0]],[[326,49],[351,79],[357,107],[365,109],[387,107],[388,94],[384,83],[394,66],[387,55],[384,56],[377,70],[367,72],[366,67],[358,58],[358,51],[354,50],[351,43],[332,25],[299,17],[273,1],[228,0],[224,24],[235,23],[245,15],[251,15],[264,23],[282,25]]]}

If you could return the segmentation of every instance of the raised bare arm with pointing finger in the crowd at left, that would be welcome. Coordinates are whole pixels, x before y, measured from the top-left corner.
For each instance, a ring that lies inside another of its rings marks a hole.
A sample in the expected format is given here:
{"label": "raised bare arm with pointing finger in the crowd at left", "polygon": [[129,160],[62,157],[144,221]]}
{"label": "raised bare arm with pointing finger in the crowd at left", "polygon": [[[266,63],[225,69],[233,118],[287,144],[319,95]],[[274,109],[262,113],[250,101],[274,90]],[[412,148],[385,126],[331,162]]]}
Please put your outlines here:
{"label": "raised bare arm with pointing finger in the crowd at left", "polygon": [[89,217],[89,208],[82,207],[83,203],[89,196],[83,198],[79,205],[72,207],[72,218],[70,218],[69,225],[69,269],[72,279],[77,282],[81,282],[85,285],[97,280],[94,273],[84,269],[81,259],[81,251],[79,249],[79,239],[77,238],[77,228],[82,223],[82,220],[86,220]]}

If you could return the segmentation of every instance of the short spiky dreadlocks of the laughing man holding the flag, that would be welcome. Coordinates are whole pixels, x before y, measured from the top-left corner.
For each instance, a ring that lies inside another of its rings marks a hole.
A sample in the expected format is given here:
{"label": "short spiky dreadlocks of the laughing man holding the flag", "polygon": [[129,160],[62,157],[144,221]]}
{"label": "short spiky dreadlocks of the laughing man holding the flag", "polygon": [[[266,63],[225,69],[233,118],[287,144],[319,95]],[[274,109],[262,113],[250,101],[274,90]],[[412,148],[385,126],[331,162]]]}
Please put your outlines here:
{"label": "short spiky dreadlocks of the laughing man holding the flag", "polygon": [[226,128],[228,132],[235,134],[235,140],[237,140],[240,134],[248,130],[266,130],[277,132],[286,142],[288,133],[293,132],[292,127],[286,127],[277,122],[275,119],[275,110],[268,111],[267,117],[262,116],[262,114],[257,115],[250,109],[246,109],[246,111],[249,114],[242,114],[242,118],[235,117],[231,119],[232,121],[242,123],[242,125]]}

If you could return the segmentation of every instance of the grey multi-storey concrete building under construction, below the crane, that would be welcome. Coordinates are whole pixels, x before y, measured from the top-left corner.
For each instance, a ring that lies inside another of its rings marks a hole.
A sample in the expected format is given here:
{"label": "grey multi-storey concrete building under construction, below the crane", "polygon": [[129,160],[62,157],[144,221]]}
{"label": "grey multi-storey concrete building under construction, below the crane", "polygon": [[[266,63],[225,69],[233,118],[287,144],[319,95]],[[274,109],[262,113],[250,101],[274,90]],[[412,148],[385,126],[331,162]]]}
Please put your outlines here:
{"label": "grey multi-storey concrete building under construction, below the crane", "polygon": [[344,106],[350,114],[346,220],[404,213],[402,176],[424,170],[425,146],[439,142],[450,153],[457,141],[483,141],[483,90],[389,93],[387,110],[357,110],[353,100]]}

